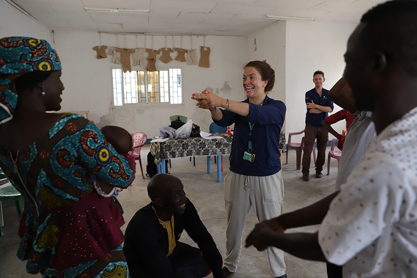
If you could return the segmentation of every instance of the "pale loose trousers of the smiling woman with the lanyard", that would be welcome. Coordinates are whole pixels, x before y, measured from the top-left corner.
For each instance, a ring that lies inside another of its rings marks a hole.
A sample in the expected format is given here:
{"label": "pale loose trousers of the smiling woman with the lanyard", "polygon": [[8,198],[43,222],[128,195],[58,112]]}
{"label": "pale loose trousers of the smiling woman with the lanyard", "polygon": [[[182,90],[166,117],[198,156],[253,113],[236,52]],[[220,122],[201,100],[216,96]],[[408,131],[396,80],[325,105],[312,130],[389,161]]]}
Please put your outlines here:
{"label": "pale loose trousers of the smiling woman with the lanyard", "polygon": [[[242,234],[246,217],[253,207],[259,222],[281,215],[284,182],[281,172],[270,176],[246,176],[229,171],[225,176],[226,258],[225,266],[236,272],[242,249]],[[252,228],[252,227],[251,227]],[[255,251],[255,250],[254,250]],[[284,252],[267,248],[269,265],[274,277],[285,274]]]}

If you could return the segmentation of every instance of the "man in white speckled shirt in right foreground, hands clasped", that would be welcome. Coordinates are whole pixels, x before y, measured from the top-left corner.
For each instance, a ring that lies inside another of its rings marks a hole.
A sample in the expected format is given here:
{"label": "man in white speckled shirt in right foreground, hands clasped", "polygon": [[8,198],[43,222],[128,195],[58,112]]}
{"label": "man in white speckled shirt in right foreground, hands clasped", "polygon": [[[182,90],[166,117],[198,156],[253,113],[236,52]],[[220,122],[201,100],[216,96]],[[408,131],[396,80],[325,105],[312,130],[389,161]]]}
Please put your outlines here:
{"label": "man in white speckled shirt in right foreground, hands clasped", "polygon": [[[308,260],[343,265],[344,278],[417,277],[417,1],[394,0],[362,16],[348,41],[356,106],[378,136],[341,191],[259,223],[246,239]],[[321,223],[316,233],[281,233]]]}

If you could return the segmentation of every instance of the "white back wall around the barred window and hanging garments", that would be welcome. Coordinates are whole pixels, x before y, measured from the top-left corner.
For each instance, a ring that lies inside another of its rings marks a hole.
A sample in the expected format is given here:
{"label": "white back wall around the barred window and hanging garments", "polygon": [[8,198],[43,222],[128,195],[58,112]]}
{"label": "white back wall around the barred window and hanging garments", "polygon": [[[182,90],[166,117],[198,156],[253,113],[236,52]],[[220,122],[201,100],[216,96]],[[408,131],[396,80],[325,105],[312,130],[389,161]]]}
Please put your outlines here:
{"label": "white back wall around the barred window and hanging garments", "polygon": [[[143,35],[102,34],[102,45],[125,48],[144,47]],[[153,41],[153,43],[152,43]],[[172,36],[146,36],[146,47],[160,49],[173,46]],[[196,108],[191,94],[211,88],[216,93],[230,99],[243,99],[241,85],[242,66],[245,63],[246,39],[241,37],[207,36],[205,46],[210,47],[210,68],[186,65],[174,59],[168,64],[159,60],[158,69],[180,67],[182,74],[183,103],[181,105],[132,104],[113,107],[113,85],[111,68],[120,65],[111,62],[111,57],[97,59],[92,48],[100,44],[97,33],[56,32],[56,49],[62,61],[62,81],[65,85],[62,111],[89,111],[89,119],[100,124],[119,125],[128,131],[143,131],[148,137],[159,135],[160,126],[169,125],[169,116],[180,114],[192,119],[202,130],[208,131],[211,117],[208,111]],[[174,37],[174,46],[180,47],[180,37]],[[182,48],[190,48],[190,37],[182,37]],[[192,48],[204,43],[203,37],[192,37]],[[144,55],[146,62],[147,53]],[[138,66],[136,69],[144,69]],[[133,68],[134,69],[134,68]]]}

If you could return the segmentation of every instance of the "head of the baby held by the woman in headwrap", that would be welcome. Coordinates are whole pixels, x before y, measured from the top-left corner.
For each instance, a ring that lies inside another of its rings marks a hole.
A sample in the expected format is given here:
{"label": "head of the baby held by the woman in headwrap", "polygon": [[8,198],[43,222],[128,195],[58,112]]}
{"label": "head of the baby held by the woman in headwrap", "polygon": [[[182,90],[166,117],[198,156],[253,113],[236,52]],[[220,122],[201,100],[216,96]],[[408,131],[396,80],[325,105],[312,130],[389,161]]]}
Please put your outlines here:
{"label": "head of the baby held by the woman in headwrap", "polygon": [[125,154],[132,150],[132,136],[130,136],[130,133],[126,129],[115,125],[106,125],[101,128],[101,132],[103,132],[107,142],[119,154]]}

